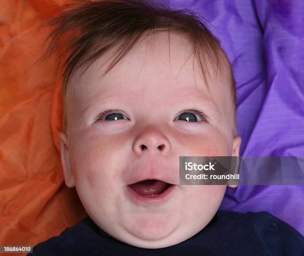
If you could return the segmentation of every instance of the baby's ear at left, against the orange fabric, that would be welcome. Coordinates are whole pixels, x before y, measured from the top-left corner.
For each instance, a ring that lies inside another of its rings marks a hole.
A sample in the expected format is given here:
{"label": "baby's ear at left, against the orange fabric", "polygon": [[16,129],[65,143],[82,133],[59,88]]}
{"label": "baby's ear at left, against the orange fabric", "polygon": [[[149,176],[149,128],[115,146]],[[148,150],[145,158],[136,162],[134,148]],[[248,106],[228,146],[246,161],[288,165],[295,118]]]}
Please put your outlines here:
{"label": "baby's ear at left, against the orange fabric", "polygon": [[69,188],[73,188],[75,186],[75,179],[72,170],[72,162],[70,157],[70,148],[69,148],[67,135],[61,132],[59,134],[59,137],[60,137],[61,164],[63,167],[65,182]]}

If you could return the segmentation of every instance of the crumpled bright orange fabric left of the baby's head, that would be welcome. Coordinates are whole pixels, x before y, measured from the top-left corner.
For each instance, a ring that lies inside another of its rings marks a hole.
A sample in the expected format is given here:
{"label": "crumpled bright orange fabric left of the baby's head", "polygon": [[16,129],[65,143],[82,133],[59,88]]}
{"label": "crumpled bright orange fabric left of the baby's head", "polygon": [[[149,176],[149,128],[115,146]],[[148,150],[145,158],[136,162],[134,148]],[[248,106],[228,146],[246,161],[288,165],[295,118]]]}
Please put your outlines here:
{"label": "crumpled bright orange fabric left of the baby's head", "polygon": [[0,3],[0,245],[34,246],[86,216],[64,184],[57,57],[34,65],[51,31],[42,23],[67,2]]}

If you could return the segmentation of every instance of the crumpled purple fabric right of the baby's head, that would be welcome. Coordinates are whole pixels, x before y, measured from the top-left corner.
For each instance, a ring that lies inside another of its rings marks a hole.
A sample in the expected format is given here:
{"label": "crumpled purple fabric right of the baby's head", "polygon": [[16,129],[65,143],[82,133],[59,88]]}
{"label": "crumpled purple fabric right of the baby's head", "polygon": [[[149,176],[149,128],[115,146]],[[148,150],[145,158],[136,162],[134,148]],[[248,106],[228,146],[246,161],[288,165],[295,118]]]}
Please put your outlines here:
{"label": "crumpled purple fabric right of the baby's head", "polygon": [[[304,4],[286,0],[170,0],[205,17],[237,83],[242,156],[304,155]],[[254,171],[254,170],[252,170]],[[304,234],[304,186],[227,189],[221,209],[268,211]]]}

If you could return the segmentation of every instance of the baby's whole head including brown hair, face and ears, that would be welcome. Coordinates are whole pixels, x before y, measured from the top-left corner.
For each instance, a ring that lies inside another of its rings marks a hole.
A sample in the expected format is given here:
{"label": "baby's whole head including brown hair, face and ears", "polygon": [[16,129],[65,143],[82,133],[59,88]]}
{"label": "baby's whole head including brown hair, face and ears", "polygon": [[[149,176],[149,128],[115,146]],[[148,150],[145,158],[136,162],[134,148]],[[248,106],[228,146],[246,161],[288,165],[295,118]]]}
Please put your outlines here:
{"label": "baby's whole head including brown hair, face and ears", "polygon": [[53,44],[68,35],[70,53],[66,185],[103,231],[141,248],[190,238],[221,204],[227,186],[179,186],[179,156],[238,156],[241,141],[219,42],[191,12],[155,6],[87,2],[57,18],[52,34]]}

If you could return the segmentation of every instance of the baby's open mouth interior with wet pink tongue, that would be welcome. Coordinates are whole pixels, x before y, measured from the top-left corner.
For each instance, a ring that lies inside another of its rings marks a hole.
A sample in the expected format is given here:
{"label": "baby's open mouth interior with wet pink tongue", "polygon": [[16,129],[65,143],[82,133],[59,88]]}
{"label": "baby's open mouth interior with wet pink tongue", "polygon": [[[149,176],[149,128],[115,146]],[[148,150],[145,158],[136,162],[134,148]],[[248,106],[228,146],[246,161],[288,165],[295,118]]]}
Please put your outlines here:
{"label": "baby's open mouth interior with wet pink tongue", "polygon": [[164,192],[170,184],[158,180],[146,180],[129,185],[135,192],[152,196]]}

